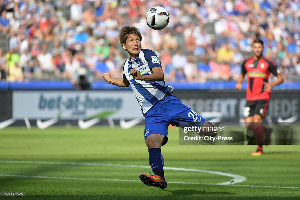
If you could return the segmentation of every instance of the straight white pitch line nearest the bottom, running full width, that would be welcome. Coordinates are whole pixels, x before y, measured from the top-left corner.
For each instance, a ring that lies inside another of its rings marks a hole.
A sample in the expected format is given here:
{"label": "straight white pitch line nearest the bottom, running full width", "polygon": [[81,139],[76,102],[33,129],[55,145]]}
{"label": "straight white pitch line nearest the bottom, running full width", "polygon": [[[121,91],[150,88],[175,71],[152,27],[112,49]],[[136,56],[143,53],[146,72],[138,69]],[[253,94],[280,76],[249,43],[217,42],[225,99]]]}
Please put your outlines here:
{"label": "straight white pitch line nearest the bottom, running full width", "polygon": [[[126,181],[126,182],[140,182],[137,180],[122,180],[122,179],[104,179],[104,178],[70,178],[70,177],[52,177],[52,176],[27,176],[27,175],[11,175],[11,174],[0,174],[0,176],[6,177],[22,177],[22,178],[47,178],[47,179],[64,179],[64,180],[87,180],[87,181]],[[237,187],[268,187],[268,188],[281,188],[281,189],[300,189],[300,187],[278,187],[278,186],[258,186],[258,185],[224,185],[217,183],[189,183],[189,182],[173,182],[168,183],[174,184],[193,184],[193,185],[221,185],[221,186],[237,186]]]}

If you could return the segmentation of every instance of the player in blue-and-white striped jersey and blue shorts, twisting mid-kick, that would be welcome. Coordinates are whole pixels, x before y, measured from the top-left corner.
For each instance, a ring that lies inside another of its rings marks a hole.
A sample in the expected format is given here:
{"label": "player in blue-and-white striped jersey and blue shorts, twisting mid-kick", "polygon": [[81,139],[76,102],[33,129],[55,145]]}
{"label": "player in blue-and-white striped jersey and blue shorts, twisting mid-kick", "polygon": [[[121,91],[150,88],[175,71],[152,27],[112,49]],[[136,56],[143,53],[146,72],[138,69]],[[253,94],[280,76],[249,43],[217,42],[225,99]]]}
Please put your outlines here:
{"label": "player in blue-and-white striped jersey and blue shorts, twisting mid-kick", "polygon": [[[123,78],[114,79],[108,73],[104,73],[103,78],[108,84],[119,87],[131,85],[145,117],[144,139],[149,151],[149,164],[154,173],[154,175],[141,174],[140,179],[146,185],[164,189],[167,182],[164,177],[161,146],[168,141],[169,125],[183,128],[184,122],[196,122],[198,127],[210,129],[214,126],[171,94],[174,88],[165,84],[161,62],[154,51],[142,49],[142,35],[136,27],[122,27],[119,39],[123,49],[130,56],[123,66]],[[212,131],[199,134],[216,135]]]}

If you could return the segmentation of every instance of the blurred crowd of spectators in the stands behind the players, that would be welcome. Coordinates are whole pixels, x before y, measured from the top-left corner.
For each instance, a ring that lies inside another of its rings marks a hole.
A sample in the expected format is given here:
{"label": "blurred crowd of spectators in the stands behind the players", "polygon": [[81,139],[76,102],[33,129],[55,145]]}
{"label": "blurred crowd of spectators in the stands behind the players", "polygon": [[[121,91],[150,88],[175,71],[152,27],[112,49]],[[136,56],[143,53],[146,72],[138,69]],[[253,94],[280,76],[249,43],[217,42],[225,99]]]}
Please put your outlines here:
{"label": "blurred crowd of spectators in the stands behind the players", "polygon": [[[154,6],[170,15],[161,31],[145,22]],[[0,0],[1,80],[121,78],[124,25],[140,29],[166,81],[237,80],[256,37],[286,81],[300,80],[300,0]]]}

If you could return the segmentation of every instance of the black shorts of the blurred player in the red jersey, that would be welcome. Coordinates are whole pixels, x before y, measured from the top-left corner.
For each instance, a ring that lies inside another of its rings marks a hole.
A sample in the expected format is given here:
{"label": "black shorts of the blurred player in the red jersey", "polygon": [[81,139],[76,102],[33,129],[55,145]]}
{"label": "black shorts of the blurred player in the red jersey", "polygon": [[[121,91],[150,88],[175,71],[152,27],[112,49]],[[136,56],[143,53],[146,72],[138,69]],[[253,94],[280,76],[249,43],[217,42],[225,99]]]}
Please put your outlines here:
{"label": "black shorts of the blurred player in the red jersey", "polygon": [[269,100],[260,99],[255,101],[247,101],[246,107],[243,111],[244,118],[253,116],[254,114],[261,115],[265,117],[265,114],[268,111]]}

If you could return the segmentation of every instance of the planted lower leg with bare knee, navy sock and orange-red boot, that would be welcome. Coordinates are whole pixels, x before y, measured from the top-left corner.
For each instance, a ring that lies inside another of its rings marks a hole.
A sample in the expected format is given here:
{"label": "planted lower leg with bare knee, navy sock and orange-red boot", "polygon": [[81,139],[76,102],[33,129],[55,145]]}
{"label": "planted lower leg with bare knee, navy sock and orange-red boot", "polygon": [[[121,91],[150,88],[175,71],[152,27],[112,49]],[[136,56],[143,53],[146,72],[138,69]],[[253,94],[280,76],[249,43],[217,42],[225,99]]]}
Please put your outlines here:
{"label": "planted lower leg with bare knee, navy sock and orange-red boot", "polygon": [[164,135],[151,134],[145,140],[149,150],[149,164],[155,175],[141,174],[141,181],[148,186],[164,189],[167,187],[167,182],[164,180],[164,158],[161,154],[161,144],[164,141]]}

